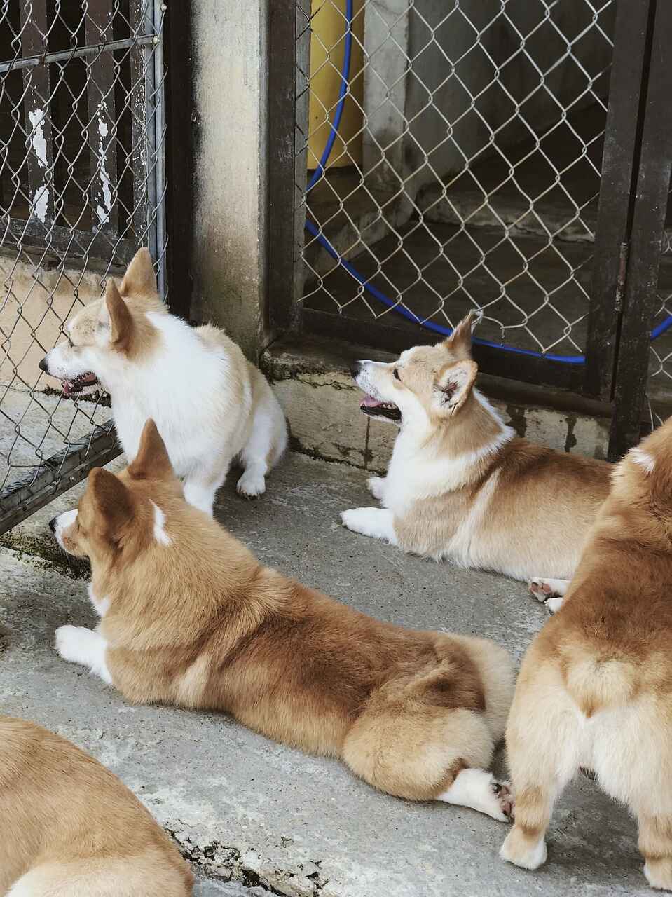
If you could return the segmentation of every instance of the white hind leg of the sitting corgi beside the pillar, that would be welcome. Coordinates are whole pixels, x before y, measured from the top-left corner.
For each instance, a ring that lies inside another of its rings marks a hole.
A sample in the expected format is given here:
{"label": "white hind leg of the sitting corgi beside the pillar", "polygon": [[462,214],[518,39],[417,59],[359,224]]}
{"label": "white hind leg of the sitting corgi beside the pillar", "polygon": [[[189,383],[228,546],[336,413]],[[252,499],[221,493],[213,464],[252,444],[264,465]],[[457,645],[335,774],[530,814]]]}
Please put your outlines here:
{"label": "white hind leg of the sitting corgi beside the pillar", "polygon": [[245,468],[236,488],[245,498],[266,492],[266,474],[287,448],[287,422],[273,390],[258,370],[250,371],[253,385],[252,427],[240,452]]}

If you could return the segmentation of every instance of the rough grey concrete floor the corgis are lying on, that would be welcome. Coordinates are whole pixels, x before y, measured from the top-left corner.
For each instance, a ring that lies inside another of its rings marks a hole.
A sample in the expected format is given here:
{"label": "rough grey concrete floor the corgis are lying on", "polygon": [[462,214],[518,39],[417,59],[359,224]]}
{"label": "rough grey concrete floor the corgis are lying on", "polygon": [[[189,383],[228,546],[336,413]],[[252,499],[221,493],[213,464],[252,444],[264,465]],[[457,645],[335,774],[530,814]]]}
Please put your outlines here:
{"label": "rough grey concrete floor the corgis are lying on", "polygon": [[[339,510],[369,502],[362,471],[293,455],[258,501],[241,501],[233,482],[218,509],[223,523],[264,562],[362,611],[490,636],[517,657],[545,622],[519,583],[408,557],[340,527]],[[26,533],[48,537],[51,513],[32,518],[15,544]],[[507,828],[484,815],[381,795],[340,763],[223,715],[128,706],[52,648],[57,626],[94,623],[77,575],[58,557],[0,553],[0,623],[10,633],[0,708],[70,738],[124,779],[209,879],[201,897],[650,893],[633,821],[587,779],[556,808],[548,864],[525,873],[498,858]],[[230,879],[237,884],[223,884]]]}

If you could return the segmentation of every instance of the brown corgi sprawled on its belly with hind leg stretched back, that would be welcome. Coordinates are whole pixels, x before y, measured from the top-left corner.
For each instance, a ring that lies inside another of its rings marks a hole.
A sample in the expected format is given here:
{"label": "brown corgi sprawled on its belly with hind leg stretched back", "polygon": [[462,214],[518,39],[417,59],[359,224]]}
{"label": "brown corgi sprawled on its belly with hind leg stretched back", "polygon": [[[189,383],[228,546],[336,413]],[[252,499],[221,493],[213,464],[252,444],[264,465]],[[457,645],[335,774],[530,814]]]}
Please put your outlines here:
{"label": "brown corgi sprawled on its belly with hind leg stretched back", "polygon": [[380,623],[263,567],[185,501],[152,421],[127,470],[89,475],[51,521],[92,563],[92,631],[57,651],[134,703],[223,710],[263,735],[338,757],[375,788],[505,821],[493,747],[513,692],[492,641]]}

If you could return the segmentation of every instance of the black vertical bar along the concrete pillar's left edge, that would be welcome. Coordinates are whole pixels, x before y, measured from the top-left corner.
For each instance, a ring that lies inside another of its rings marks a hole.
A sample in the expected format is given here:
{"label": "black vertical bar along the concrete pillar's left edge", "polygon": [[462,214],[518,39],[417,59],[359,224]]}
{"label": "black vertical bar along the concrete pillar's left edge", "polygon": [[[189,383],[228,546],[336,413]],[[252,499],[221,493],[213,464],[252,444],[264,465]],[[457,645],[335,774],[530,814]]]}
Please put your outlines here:
{"label": "black vertical bar along the concrete pillar's left edge", "polygon": [[194,211],[193,46],[191,4],[170,4],[163,32],[166,53],[166,222],[168,229],[168,304],[189,319],[193,277],[191,249]]}

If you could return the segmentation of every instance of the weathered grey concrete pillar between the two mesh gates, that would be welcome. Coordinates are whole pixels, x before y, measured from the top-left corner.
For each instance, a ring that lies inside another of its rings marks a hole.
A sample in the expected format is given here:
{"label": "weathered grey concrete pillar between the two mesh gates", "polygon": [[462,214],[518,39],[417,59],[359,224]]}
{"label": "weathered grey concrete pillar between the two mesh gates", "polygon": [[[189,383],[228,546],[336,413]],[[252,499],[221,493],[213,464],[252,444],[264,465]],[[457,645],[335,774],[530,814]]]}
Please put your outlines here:
{"label": "weathered grey concrete pillar between the two mesh gates", "polygon": [[267,6],[194,0],[193,10],[192,318],[226,327],[256,360],[265,326]]}

